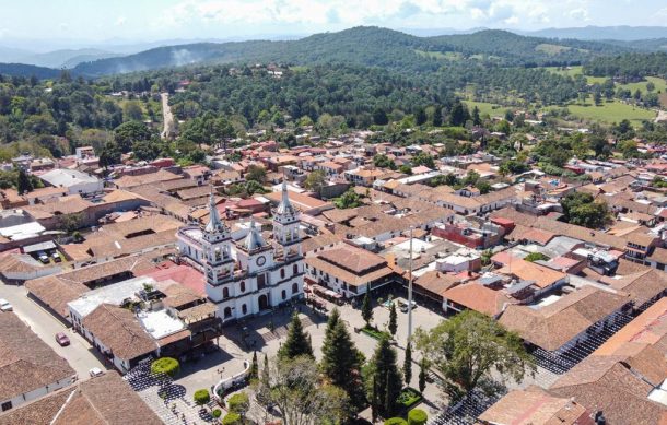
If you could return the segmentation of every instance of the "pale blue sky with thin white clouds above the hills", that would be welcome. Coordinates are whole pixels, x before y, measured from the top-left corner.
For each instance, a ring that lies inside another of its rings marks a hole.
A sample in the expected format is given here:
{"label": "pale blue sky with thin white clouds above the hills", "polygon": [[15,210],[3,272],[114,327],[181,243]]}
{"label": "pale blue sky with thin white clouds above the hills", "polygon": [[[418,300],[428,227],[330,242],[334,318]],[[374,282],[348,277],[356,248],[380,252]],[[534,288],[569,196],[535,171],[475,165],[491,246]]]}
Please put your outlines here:
{"label": "pale blue sky with thin white clouds above the hills", "polygon": [[665,23],[665,0],[3,0],[0,43],[303,35],[356,25],[538,29]]}

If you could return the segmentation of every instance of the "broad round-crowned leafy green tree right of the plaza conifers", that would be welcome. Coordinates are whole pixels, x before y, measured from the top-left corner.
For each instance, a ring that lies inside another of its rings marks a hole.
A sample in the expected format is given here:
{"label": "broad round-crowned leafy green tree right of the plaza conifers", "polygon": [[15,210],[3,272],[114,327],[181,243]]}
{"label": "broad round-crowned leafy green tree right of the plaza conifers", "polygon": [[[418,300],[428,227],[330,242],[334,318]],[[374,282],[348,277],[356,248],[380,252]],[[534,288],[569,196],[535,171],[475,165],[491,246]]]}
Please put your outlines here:
{"label": "broad round-crowned leafy green tree right of the plaza conifers", "polygon": [[422,356],[445,378],[448,388],[466,393],[481,387],[493,392],[492,374],[520,382],[535,370],[522,339],[492,318],[473,310],[443,320],[430,331],[417,329]]}

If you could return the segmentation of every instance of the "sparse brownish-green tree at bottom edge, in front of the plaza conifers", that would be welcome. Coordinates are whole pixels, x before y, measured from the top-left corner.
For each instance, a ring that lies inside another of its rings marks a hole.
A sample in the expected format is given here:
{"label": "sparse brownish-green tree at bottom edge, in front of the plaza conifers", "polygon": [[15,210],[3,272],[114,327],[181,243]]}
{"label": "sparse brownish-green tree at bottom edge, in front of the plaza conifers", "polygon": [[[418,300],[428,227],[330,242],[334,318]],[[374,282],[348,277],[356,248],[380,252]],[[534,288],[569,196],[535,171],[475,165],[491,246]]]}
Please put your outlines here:
{"label": "sparse brownish-green tree at bottom edge, in front of the plaza conifers", "polygon": [[284,425],[337,424],[348,416],[348,396],[321,382],[312,357],[277,358],[270,376],[271,402]]}

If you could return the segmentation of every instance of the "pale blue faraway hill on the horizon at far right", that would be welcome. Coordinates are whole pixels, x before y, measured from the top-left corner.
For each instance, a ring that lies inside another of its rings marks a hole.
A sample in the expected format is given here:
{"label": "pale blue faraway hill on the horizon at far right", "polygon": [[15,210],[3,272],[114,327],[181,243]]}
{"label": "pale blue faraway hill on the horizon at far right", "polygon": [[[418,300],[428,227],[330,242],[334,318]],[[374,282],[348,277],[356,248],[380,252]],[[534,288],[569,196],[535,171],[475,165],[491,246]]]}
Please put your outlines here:
{"label": "pale blue faraway hill on the horizon at far right", "polygon": [[667,38],[667,27],[665,26],[583,26],[572,28],[546,28],[517,33],[533,37],[577,38],[586,40],[633,42],[651,38]]}

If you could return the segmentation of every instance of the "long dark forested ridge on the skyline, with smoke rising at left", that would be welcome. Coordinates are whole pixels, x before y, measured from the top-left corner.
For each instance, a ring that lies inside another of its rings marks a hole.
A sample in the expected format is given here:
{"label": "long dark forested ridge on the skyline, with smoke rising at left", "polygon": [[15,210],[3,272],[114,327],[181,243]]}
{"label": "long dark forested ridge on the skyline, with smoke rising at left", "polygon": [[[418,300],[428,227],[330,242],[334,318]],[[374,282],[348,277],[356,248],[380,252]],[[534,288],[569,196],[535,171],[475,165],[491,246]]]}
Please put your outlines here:
{"label": "long dark forested ridge on the skyline, with smoke rising at left", "polygon": [[[632,46],[526,37],[498,29],[418,37],[387,28],[361,26],[296,40],[197,43],[159,47],[125,57],[80,63],[73,72],[100,76],[202,62],[255,61],[291,64],[342,62],[399,71],[433,70],[442,66],[442,55],[446,52],[504,66],[539,66],[581,63],[596,55],[633,50]],[[440,58],[437,54],[442,54]]]}

